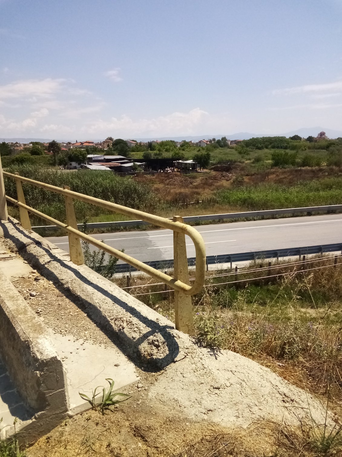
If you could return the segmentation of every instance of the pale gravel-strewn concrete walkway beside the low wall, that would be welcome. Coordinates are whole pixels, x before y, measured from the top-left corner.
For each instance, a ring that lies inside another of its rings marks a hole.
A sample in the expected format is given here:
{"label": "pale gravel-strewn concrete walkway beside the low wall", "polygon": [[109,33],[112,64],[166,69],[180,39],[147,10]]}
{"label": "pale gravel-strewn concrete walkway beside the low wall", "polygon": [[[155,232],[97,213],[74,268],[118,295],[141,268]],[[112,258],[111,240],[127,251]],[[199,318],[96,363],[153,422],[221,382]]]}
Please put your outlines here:
{"label": "pale gravel-strewn concrete walkway beside the low wall", "polygon": [[[54,325],[55,321],[52,317],[49,319],[48,314],[39,313],[38,316],[46,326],[57,355],[62,360],[67,377],[67,394],[70,410],[88,407],[88,402],[85,402],[80,397],[79,392],[87,393],[88,396],[91,397],[91,391],[95,387],[108,387],[109,384],[107,383],[106,378],[114,379],[114,389],[121,389],[139,379],[133,362],[106,338],[105,335],[103,335],[104,344],[96,344],[94,340],[91,340],[90,334],[92,334],[92,331],[89,331],[90,340],[88,340],[89,325],[94,327],[93,331],[96,331],[97,335],[100,335],[100,337],[102,332],[84,313],[82,313],[82,317],[88,322],[87,330],[84,329],[85,331],[82,332],[82,338],[75,338],[75,332],[73,334],[72,332],[68,333],[65,331],[67,328],[73,329],[73,316],[76,314],[76,311],[79,312],[77,305],[70,300],[66,301],[64,297],[57,298],[57,296],[62,294],[59,293],[52,282],[48,282],[42,276],[39,276],[39,282],[35,281],[34,278],[37,278],[36,275],[38,275],[38,273],[32,270],[31,266],[29,266],[20,255],[9,252],[1,243],[0,271],[2,271],[12,282],[37,314],[38,304],[40,307],[38,309],[44,310],[44,305],[46,305],[49,300],[39,298],[39,292],[37,292],[36,298],[31,298],[29,293],[25,296],[25,292],[28,292],[28,289],[25,290],[24,287],[20,287],[19,285],[26,284],[25,287],[27,287],[27,283],[29,283],[29,285],[32,286],[29,288],[30,291],[38,291],[38,286],[43,289],[47,289],[48,287],[46,297],[49,297],[50,303],[52,300],[52,303],[57,305],[57,307],[60,304],[58,300],[64,300],[67,303],[66,314],[68,314],[68,317],[66,316],[64,328],[61,331],[56,329],[56,326]],[[61,316],[64,315],[63,310],[61,310]],[[56,316],[56,312],[54,313],[54,316]],[[100,390],[99,393],[100,392],[102,392],[102,390]],[[3,417],[3,422],[0,428],[3,428],[4,426],[13,425],[15,418],[23,421],[30,419],[31,415],[16,392],[15,386],[11,382],[5,366],[0,361],[0,419],[1,417]]]}

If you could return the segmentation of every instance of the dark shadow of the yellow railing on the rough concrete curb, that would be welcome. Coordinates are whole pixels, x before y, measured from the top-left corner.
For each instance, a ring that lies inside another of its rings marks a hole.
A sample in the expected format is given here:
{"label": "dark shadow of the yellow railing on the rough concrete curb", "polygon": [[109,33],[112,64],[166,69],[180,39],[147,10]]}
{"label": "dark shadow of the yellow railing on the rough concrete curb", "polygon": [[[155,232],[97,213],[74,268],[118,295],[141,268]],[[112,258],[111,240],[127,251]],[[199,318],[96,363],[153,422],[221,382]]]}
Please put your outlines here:
{"label": "dark shadow of the yellow railing on the rough concrete curb", "polygon": [[[11,232],[8,229],[9,223]],[[18,224],[14,223],[11,219],[9,219],[7,223],[3,223],[3,221],[0,222],[0,229],[3,231],[5,238],[10,239],[16,245],[19,253],[23,255],[23,257],[27,260],[29,260],[29,253],[26,251],[26,245],[23,243],[23,239],[20,239],[20,235],[23,235],[29,241],[29,244],[36,244],[41,250],[43,250],[44,254],[49,257],[49,260],[42,263],[40,259],[35,257],[35,268],[41,272],[42,276],[52,281],[59,292],[72,300],[73,303],[75,303],[83,312],[86,309],[87,314],[90,315],[98,328],[101,329],[101,331],[109,338],[109,340],[117,345],[119,349],[124,353],[124,355],[132,360],[135,365],[146,372],[157,372],[175,361],[179,355],[179,345],[175,337],[171,334],[171,331],[174,329],[174,327],[162,325],[156,320],[150,319],[148,316],[141,314],[137,308],[128,304],[127,302],[120,300],[113,293],[109,292],[109,290],[101,287],[97,282],[95,282],[97,273],[93,272],[94,281],[90,280],[88,277],[83,275],[81,271],[79,271],[77,268],[74,268],[70,262],[59,259],[51,252],[47,246],[44,246],[43,243],[30,236],[30,234],[22,230],[21,227]],[[99,292],[104,297],[109,298],[111,302],[115,303],[115,305],[118,305],[131,316],[134,316],[135,319],[138,319],[139,322],[149,330],[136,339],[132,339],[131,335],[128,334],[126,329],[122,329],[118,332],[116,329],[114,329],[113,324],[109,318],[100,308],[98,308],[98,306],[94,305],[94,303],[91,303],[84,297],[82,297],[80,300],[79,295],[70,289],[65,289],[65,287],[60,283],[60,278],[56,276],[54,271],[52,271],[52,262],[57,262],[59,266],[70,272],[74,278],[82,281],[83,284],[93,288],[94,291]],[[106,281],[105,278],[103,279]],[[136,300],[133,297],[132,299]],[[162,357],[146,358],[143,354],[141,354],[140,346],[151,335],[156,334],[159,334],[165,342],[167,352]]]}

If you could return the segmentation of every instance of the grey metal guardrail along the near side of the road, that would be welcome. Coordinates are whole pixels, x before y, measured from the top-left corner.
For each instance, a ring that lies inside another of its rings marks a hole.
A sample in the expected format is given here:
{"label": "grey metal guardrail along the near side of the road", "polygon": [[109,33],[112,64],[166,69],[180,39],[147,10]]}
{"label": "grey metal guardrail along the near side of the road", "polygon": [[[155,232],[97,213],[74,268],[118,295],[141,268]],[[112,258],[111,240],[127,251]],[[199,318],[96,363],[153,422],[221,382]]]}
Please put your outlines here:
{"label": "grey metal guardrail along the near side of the road", "polygon": [[[324,252],[342,252],[342,243],[335,244],[317,244],[316,246],[302,246],[300,248],[287,248],[278,250],[266,250],[266,251],[255,251],[255,252],[241,252],[238,254],[222,254],[222,255],[208,255],[207,265],[216,265],[223,263],[232,262],[243,262],[250,260],[261,260],[261,259],[279,259],[279,257],[295,257],[296,255],[308,255],[308,254],[323,254]],[[188,266],[194,266],[196,257],[188,258]],[[151,260],[145,262],[146,265],[150,265],[157,270],[167,270],[173,268],[173,259],[170,260]],[[134,268],[130,268],[128,264],[118,264],[116,266],[117,273],[128,273],[131,271],[137,271]]]}

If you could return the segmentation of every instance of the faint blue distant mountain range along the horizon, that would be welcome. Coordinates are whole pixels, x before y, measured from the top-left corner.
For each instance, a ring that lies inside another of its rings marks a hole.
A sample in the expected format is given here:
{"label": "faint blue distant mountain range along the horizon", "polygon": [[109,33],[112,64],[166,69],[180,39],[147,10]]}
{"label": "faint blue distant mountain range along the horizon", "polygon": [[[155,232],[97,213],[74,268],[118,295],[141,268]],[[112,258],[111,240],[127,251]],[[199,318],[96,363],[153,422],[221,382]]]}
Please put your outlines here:
{"label": "faint blue distant mountain range along the horizon", "polygon": [[[309,128],[300,128],[298,130],[293,130],[292,132],[286,132],[286,133],[249,133],[249,132],[238,132],[238,133],[233,133],[233,134],[227,134],[227,133],[217,133],[216,135],[196,135],[196,136],[187,136],[187,135],[182,135],[178,137],[132,137],[131,139],[135,139],[137,141],[150,141],[150,140],[174,140],[174,141],[198,141],[199,139],[207,139],[207,138],[222,138],[226,137],[230,140],[244,140],[248,138],[255,138],[255,137],[272,137],[272,136],[284,136],[286,138],[292,137],[293,135],[300,135],[303,138],[307,138],[308,136],[313,136],[316,137],[318,133],[321,131],[324,131],[326,133],[326,136],[328,138],[338,138],[342,137],[342,131],[341,130],[332,130],[330,128],[323,128],[323,127],[309,127]],[[88,138],[88,137],[87,137]],[[56,139],[56,138],[55,138]],[[89,139],[89,138],[88,138]],[[103,140],[104,138],[102,138]],[[128,138],[127,138],[128,139]],[[41,143],[48,143],[51,141],[52,138],[1,138],[0,137],[0,142],[1,141],[6,141],[6,142],[13,142],[15,143],[18,141],[19,143],[30,143],[31,141],[40,141]],[[74,139],[56,139],[57,141],[72,141],[75,142]],[[94,139],[93,141],[102,141],[100,139]],[[85,140],[80,140],[80,141],[85,141]]]}

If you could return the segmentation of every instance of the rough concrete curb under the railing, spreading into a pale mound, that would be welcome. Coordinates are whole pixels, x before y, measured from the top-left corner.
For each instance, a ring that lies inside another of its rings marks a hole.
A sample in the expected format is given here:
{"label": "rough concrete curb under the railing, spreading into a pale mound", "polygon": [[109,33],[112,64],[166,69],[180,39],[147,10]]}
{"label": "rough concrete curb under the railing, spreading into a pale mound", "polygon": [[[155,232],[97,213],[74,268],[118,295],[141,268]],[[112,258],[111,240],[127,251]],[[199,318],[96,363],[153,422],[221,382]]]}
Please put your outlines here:
{"label": "rough concrete curb under the railing, spreading into a pale mound", "polygon": [[[225,426],[248,426],[264,419],[310,424],[310,404],[314,420],[324,423],[325,409],[317,399],[268,368],[231,351],[199,348],[168,319],[86,266],[75,266],[16,221],[0,228],[6,247],[18,250],[134,363],[147,389],[146,404]],[[72,330],[68,327],[70,334]],[[332,424],[329,414],[328,422]]]}

